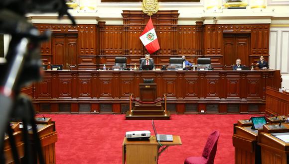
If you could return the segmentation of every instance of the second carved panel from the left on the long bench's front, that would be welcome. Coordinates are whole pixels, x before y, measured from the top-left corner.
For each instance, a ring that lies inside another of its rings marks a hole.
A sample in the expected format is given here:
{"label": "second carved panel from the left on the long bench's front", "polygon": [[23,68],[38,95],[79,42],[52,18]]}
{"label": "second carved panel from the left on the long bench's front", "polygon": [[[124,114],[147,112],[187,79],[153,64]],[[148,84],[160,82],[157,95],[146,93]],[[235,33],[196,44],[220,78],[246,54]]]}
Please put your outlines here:
{"label": "second carved panel from the left on the long bench's front", "polygon": [[58,74],[58,98],[72,98],[72,74]]}

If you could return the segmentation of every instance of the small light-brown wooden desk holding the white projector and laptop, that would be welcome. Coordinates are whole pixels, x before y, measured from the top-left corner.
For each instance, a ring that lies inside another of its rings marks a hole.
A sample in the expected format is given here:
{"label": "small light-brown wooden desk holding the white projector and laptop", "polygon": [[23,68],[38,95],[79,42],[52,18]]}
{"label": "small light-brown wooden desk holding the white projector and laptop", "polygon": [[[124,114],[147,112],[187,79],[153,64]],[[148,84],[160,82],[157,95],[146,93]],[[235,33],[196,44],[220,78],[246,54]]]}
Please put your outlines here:
{"label": "small light-brown wooden desk holding the white projector and laptop", "polygon": [[158,156],[169,146],[182,145],[180,136],[173,135],[173,142],[160,142],[165,146],[161,152],[155,136],[150,136],[148,141],[128,141],[125,137],[123,142],[123,164],[157,164]]}

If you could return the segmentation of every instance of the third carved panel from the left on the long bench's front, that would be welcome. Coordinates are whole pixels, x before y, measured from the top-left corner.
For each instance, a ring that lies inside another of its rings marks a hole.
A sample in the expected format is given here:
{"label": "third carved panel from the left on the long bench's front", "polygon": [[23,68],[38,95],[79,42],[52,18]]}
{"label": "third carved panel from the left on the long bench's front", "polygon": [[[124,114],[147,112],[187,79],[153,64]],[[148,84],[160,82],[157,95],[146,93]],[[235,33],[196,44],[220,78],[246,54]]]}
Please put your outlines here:
{"label": "third carved panel from the left on the long bench's front", "polygon": [[92,98],[92,74],[82,73],[78,75],[78,87],[74,88],[77,91],[77,98]]}

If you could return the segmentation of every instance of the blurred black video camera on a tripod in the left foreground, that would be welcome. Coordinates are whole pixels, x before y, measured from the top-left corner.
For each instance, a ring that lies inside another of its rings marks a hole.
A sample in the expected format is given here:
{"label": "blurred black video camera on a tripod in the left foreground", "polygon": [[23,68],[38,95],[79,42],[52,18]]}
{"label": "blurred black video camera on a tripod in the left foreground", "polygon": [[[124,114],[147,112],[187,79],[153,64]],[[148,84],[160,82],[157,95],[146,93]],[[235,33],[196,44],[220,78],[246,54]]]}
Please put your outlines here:
{"label": "blurred black video camera on a tripod in the left foreground", "polygon": [[[67,15],[75,25],[75,20],[68,13],[65,0],[0,0],[0,33],[10,34],[8,52],[5,63],[0,64],[0,164],[5,163],[3,154],[4,133],[9,135],[10,146],[15,164],[19,164],[17,148],[9,125],[10,120],[23,122],[24,164],[39,161],[44,164],[41,144],[37,133],[34,109],[30,98],[19,94],[21,86],[41,79],[42,62],[40,59],[40,42],[48,40],[51,32],[42,34],[31,22],[27,13],[58,12],[59,18]],[[27,126],[32,126],[34,150],[31,156]]]}

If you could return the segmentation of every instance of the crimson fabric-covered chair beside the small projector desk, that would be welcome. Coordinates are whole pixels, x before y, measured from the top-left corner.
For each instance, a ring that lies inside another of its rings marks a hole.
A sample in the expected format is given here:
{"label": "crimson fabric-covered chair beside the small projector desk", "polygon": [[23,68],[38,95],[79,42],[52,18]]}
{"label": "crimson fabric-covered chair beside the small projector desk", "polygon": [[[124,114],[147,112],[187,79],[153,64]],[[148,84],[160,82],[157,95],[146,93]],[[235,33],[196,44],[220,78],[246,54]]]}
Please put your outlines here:
{"label": "crimson fabric-covered chair beside the small projector desk", "polygon": [[202,156],[189,157],[185,160],[185,164],[214,164],[219,136],[220,133],[218,131],[211,133],[208,137]]}

